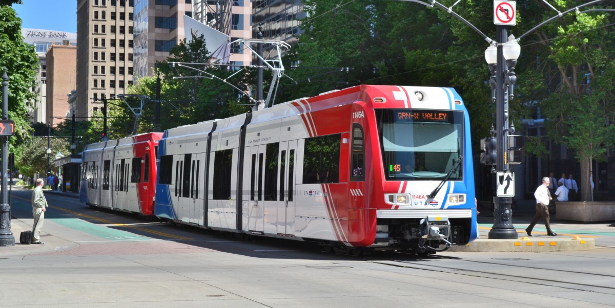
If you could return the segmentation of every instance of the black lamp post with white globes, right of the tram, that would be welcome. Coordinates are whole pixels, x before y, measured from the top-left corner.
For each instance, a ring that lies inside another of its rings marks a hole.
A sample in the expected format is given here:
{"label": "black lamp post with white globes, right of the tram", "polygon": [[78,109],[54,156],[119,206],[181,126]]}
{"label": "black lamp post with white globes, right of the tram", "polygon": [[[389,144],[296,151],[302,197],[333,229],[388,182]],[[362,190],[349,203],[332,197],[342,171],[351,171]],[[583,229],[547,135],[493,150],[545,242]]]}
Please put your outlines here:
{"label": "black lamp post with white globes, right of the tram", "polygon": [[[496,169],[492,172],[508,172],[510,164],[508,158],[508,139],[509,133],[514,133],[514,126],[509,126],[508,102],[512,99],[513,87],[517,81],[514,73],[514,67],[517,64],[517,58],[521,53],[521,47],[515,40],[515,37],[510,35],[507,37],[506,26],[498,25],[496,27],[497,38],[487,50],[485,50],[485,60],[487,61],[491,74],[490,85],[492,98],[496,101]],[[494,95],[493,95],[494,94]],[[498,181],[499,179],[496,179]],[[493,197],[494,212],[493,212],[493,227],[489,231],[490,239],[517,239],[517,231],[512,225],[512,204],[511,197]]]}

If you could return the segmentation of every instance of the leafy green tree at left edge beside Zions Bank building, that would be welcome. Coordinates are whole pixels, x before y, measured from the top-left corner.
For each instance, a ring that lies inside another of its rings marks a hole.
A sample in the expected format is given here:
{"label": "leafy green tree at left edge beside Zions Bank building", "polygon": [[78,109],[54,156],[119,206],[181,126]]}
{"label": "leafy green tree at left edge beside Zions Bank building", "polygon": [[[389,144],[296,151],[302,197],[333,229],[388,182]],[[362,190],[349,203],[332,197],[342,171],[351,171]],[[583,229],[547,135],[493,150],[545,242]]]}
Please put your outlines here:
{"label": "leafy green tree at left edge beside Zions Bank building", "polygon": [[22,144],[31,134],[26,103],[35,99],[31,88],[39,67],[34,47],[23,41],[22,20],[10,7],[21,3],[17,0],[0,1],[0,69],[6,67],[9,77],[8,117],[15,121],[15,137],[9,138],[9,151],[13,153],[16,152],[15,145]]}

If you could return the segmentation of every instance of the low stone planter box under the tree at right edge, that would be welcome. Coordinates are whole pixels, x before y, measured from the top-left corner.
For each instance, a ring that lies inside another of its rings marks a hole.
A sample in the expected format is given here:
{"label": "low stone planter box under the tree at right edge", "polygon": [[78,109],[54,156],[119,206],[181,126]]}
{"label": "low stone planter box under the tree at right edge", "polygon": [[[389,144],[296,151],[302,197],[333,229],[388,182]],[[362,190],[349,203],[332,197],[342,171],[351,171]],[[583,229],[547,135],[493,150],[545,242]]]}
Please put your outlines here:
{"label": "low stone planter box under the tree at right edge", "polygon": [[557,202],[555,216],[559,220],[582,222],[615,221],[613,202]]}

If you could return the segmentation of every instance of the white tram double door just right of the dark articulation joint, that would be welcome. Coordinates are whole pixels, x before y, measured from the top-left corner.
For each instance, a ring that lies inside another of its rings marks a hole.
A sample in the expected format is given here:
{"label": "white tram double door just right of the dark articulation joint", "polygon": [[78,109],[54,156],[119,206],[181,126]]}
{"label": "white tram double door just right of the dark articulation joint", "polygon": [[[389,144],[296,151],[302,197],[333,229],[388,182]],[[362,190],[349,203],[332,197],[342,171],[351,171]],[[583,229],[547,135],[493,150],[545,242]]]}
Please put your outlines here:
{"label": "white tram double door just right of the dark articulation joint", "polygon": [[[247,170],[249,173],[250,198],[248,199],[248,230],[263,231],[264,227],[264,161],[267,145],[257,145],[247,149]],[[244,175],[245,176],[245,175]]]}

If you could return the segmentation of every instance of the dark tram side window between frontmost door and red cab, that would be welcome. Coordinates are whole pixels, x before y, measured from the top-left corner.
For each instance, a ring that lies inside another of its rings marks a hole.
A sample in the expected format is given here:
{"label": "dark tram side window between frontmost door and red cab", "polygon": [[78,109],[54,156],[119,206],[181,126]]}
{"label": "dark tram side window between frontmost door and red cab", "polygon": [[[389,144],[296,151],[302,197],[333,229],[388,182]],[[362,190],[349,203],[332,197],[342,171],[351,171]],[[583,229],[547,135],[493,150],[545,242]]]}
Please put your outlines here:
{"label": "dark tram side window between frontmost door and red cab", "polygon": [[308,138],[303,154],[303,183],[339,182],[341,134]]}

